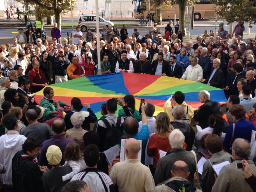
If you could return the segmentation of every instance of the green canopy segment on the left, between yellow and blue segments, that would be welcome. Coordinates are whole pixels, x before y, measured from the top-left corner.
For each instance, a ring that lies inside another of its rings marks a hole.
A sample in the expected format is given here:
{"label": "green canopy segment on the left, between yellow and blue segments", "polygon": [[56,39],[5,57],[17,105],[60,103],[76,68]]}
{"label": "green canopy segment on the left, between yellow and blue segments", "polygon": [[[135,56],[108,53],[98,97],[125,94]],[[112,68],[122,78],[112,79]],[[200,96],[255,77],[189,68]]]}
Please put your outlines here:
{"label": "green canopy segment on the left, between yellow and blue segments", "polygon": [[73,80],[64,81],[62,83],[55,83],[52,84],[51,87],[62,87],[66,89],[73,89],[78,91],[90,91],[90,92],[96,92],[96,93],[103,93],[103,94],[114,94],[114,95],[122,95],[125,96],[125,94],[116,93],[114,91],[101,89],[98,86],[95,86],[90,80],[88,80],[86,77],[77,78]]}

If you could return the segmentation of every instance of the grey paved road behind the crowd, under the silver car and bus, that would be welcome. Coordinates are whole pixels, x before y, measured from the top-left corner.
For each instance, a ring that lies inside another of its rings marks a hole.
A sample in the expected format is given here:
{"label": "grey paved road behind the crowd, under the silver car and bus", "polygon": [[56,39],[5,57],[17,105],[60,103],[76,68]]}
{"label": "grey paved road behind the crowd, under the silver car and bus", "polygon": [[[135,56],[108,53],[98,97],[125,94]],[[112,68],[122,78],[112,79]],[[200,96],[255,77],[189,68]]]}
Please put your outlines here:
{"label": "grey paved road behind the crowd, under the silver car and bus", "polygon": [[[113,21],[114,23],[120,23],[121,21]],[[131,23],[131,22],[135,22],[135,23],[139,23],[138,21],[122,21],[123,23]],[[70,23],[70,21],[64,21],[63,23]],[[217,31],[219,29],[219,23],[224,23],[224,29],[228,30],[229,29],[229,26],[227,25],[227,22],[223,22],[223,21],[218,21],[217,22]],[[74,22],[74,26],[76,26],[77,22],[75,21]],[[167,24],[166,21],[163,22],[163,24]],[[234,23],[234,26],[236,25],[236,23]],[[204,34],[204,31],[205,30],[208,30],[208,33],[210,30],[213,30],[214,31],[214,28],[215,28],[215,21],[214,19],[203,19],[203,20],[200,20],[200,21],[195,21],[194,23],[194,29],[193,30],[190,30],[190,35],[198,35],[198,34]],[[245,24],[245,32],[244,33],[247,33],[247,24]],[[118,29],[120,30],[121,27],[119,27]],[[132,28],[127,28],[128,30],[128,34],[131,34],[133,33],[133,29],[134,28],[137,28],[138,29],[138,32],[140,32],[140,34],[142,36],[144,36],[145,34],[148,33],[149,29],[151,27],[139,27],[139,26],[135,26],[135,27],[132,27]],[[162,31],[164,31],[164,27],[160,27],[160,29]],[[47,36],[50,36],[50,30],[49,28],[46,29],[46,33],[47,33]],[[253,27],[251,28],[251,33],[256,33],[256,26],[253,25]],[[62,37],[67,37],[67,32],[69,32],[69,36],[70,36],[70,32],[71,32],[71,27],[68,29],[68,28],[62,28]],[[17,33],[17,28],[5,28],[4,26],[1,27],[1,30],[0,30],[0,37],[13,37],[15,36],[15,34]]]}

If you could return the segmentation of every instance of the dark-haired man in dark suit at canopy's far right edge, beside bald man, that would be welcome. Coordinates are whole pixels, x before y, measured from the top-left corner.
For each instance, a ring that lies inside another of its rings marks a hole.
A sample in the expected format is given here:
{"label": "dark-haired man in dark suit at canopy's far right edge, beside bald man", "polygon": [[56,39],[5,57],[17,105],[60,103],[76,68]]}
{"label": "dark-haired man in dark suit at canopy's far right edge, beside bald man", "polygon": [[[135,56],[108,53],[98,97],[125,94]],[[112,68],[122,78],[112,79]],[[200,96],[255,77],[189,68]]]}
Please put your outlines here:
{"label": "dark-haired man in dark suit at canopy's far right edge, beside bald man", "polygon": [[236,76],[233,79],[232,84],[228,85],[226,87],[226,90],[227,90],[226,96],[229,96],[229,95],[237,95],[238,96],[239,95],[239,91],[237,89],[237,80],[239,80],[241,78],[246,79],[245,75],[242,73],[243,66],[240,63],[233,64],[232,71],[234,71]]}

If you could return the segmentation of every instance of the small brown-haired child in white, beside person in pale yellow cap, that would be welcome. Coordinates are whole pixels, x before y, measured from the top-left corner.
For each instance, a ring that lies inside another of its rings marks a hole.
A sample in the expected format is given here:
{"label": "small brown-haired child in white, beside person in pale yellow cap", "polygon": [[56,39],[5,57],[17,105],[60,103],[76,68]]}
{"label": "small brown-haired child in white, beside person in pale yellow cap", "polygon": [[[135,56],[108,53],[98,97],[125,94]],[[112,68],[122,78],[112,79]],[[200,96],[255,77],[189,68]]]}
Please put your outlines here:
{"label": "small brown-haired child in white, beside person in pale yellow cap", "polygon": [[62,181],[67,181],[76,175],[79,171],[85,169],[85,162],[82,158],[81,152],[79,150],[79,145],[77,143],[67,144],[64,151],[64,158],[66,162],[64,166],[69,166],[72,168],[72,172],[62,176]]}

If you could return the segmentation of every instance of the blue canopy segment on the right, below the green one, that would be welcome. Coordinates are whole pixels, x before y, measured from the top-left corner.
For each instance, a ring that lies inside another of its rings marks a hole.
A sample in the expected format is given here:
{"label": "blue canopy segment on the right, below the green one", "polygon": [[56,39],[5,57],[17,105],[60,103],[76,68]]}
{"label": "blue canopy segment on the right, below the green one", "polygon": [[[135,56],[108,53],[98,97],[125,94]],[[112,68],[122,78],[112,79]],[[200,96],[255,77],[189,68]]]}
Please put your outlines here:
{"label": "blue canopy segment on the right, below the green one", "polygon": [[[199,102],[198,93],[199,92],[184,93],[185,94],[185,101]],[[222,89],[209,91],[209,93],[211,94],[210,99],[213,100],[213,101],[223,101],[223,102],[227,101],[227,98],[226,98],[226,96],[224,94],[224,91]],[[136,95],[136,97],[141,97],[141,98],[144,98],[144,99],[154,99],[154,100],[167,100],[170,97],[170,95],[174,95],[174,92],[169,93],[168,95],[155,95],[155,96],[139,96],[139,95]]]}

